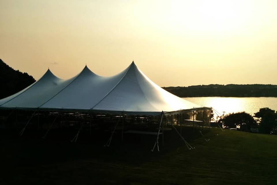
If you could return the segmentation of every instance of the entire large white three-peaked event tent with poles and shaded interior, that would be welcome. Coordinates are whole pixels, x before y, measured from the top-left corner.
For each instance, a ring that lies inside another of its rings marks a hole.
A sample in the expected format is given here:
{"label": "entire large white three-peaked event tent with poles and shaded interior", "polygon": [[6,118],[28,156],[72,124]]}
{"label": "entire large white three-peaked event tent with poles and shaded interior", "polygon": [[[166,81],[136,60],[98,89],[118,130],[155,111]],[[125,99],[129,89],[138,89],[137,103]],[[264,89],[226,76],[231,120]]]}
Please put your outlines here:
{"label": "entire large white three-peaked event tent with poles and shaded interior", "polygon": [[[72,139],[72,142],[76,142],[82,128],[89,127],[91,131],[96,125],[99,126],[97,123],[101,123],[110,128],[107,147],[115,131],[121,130],[122,139],[124,133],[157,136],[153,141],[154,148],[158,146],[160,136],[164,140],[166,130],[177,131],[174,125],[209,127],[212,109],[162,89],[144,75],[134,62],[121,73],[110,77],[97,75],[85,66],[78,75],[61,79],[48,69],[35,83],[1,99],[0,108],[7,112],[5,121],[14,117],[16,127],[21,127],[20,136],[32,125],[45,130],[43,138],[51,128],[78,125],[78,132]],[[22,114],[24,111],[31,114],[20,124],[18,112]],[[156,131],[147,130],[153,127],[157,128]],[[184,140],[182,134],[177,133]]]}

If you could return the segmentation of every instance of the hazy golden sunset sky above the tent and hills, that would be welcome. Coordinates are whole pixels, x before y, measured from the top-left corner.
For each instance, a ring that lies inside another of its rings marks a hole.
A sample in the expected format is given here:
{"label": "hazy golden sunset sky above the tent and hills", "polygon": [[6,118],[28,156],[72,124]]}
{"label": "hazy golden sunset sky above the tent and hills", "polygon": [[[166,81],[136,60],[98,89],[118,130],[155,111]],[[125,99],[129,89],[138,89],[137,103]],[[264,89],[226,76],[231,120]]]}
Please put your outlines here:
{"label": "hazy golden sunset sky above the tent and hills", "polygon": [[159,86],[277,84],[277,1],[0,0],[0,43],[35,79],[134,60]]}

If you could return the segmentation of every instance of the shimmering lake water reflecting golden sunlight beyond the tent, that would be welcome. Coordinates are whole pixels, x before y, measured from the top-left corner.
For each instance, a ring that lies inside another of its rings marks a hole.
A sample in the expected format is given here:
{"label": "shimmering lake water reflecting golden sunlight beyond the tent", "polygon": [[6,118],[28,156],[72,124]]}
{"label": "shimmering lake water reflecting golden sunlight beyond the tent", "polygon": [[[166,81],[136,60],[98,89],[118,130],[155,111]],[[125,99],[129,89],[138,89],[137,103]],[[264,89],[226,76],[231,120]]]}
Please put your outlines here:
{"label": "shimmering lake water reflecting golden sunlight beyond the tent", "polygon": [[201,106],[212,107],[220,114],[245,111],[254,115],[260,108],[277,110],[277,97],[191,97],[183,98]]}

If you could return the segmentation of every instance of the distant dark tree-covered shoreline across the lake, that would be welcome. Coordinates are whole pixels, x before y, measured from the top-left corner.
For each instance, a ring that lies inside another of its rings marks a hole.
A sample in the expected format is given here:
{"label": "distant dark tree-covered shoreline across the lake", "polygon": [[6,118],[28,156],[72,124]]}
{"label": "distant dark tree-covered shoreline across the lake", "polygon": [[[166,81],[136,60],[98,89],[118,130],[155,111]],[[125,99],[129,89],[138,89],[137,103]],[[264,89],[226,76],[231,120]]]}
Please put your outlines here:
{"label": "distant dark tree-covered shoreline across the lake", "polygon": [[163,87],[179,97],[277,97],[277,85],[197,85],[188,87]]}

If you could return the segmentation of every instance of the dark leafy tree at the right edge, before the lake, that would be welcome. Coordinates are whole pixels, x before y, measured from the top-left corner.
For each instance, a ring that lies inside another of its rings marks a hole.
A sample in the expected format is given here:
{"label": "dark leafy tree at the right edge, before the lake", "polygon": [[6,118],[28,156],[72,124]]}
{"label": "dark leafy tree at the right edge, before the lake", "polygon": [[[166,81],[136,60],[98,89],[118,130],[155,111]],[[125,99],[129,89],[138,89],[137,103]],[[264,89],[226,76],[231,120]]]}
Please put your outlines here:
{"label": "dark leafy tree at the right edge, before the lake", "polygon": [[261,108],[259,112],[254,114],[254,117],[259,119],[260,132],[270,134],[276,132],[277,127],[277,112],[270,108]]}

